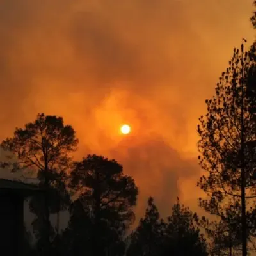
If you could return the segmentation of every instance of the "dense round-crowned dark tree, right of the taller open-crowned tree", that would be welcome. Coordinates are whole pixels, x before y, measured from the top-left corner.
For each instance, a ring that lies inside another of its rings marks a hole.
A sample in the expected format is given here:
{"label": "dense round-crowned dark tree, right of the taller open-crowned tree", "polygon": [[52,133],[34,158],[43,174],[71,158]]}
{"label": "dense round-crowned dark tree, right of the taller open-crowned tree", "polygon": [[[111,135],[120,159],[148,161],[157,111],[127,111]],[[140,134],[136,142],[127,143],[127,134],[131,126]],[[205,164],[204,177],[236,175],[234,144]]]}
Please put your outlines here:
{"label": "dense round-crowned dark tree, right of the taller open-crowned tree", "polygon": [[133,207],[138,195],[134,180],[123,173],[122,166],[114,159],[95,154],[77,162],[70,177],[71,188],[77,196],[74,204],[79,209],[72,212],[70,230],[79,228],[74,223],[83,207],[93,255],[118,255],[116,248],[120,248],[134,220]]}

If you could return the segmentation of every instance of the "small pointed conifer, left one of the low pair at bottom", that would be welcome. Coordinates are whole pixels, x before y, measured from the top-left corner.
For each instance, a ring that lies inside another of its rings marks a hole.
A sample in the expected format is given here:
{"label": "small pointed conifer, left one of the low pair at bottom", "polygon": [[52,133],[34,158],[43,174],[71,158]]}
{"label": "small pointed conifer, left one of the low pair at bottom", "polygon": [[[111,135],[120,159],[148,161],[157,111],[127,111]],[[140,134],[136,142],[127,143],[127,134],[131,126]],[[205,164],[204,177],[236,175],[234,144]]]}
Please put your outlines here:
{"label": "small pointed conifer, left one of the low pair at bottom", "polygon": [[165,226],[153,198],[148,198],[145,216],[141,218],[138,227],[129,236],[130,245],[127,256],[161,255]]}

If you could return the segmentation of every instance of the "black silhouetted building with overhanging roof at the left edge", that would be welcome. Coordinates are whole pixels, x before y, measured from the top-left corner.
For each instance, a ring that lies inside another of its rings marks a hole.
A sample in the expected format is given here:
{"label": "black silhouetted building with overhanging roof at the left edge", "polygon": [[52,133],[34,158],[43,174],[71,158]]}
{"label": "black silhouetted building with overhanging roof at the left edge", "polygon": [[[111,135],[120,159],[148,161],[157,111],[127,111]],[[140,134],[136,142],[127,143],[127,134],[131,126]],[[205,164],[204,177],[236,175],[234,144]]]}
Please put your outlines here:
{"label": "black silhouetted building with overhanging roof at the left edge", "polygon": [[1,254],[23,255],[24,198],[38,193],[36,186],[0,179],[0,248]]}

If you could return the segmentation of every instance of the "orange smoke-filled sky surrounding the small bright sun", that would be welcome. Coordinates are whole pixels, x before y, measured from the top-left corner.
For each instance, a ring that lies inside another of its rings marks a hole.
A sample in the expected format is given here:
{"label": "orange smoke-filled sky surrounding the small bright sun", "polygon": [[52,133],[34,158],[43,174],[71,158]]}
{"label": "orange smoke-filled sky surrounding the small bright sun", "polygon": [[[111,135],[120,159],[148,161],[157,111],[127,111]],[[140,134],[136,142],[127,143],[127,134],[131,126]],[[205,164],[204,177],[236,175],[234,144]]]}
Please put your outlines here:
{"label": "orange smoke-filled sky surrounding the small bright sun", "polygon": [[77,158],[104,154],[134,177],[139,212],[150,195],[163,215],[178,195],[196,209],[196,124],[233,48],[252,42],[252,12],[252,0],[0,0],[0,139],[39,112],[63,116]]}

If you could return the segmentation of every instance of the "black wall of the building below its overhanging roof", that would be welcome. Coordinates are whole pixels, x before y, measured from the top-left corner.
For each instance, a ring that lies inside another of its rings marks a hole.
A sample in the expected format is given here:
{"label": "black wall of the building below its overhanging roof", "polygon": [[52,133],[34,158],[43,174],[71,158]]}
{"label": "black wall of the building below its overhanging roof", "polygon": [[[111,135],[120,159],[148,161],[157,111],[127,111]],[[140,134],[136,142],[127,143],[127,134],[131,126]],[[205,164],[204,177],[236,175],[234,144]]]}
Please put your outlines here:
{"label": "black wall of the building below its overhanging roof", "polygon": [[22,196],[0,194],[0,255],[22,256],[23,225]]}

